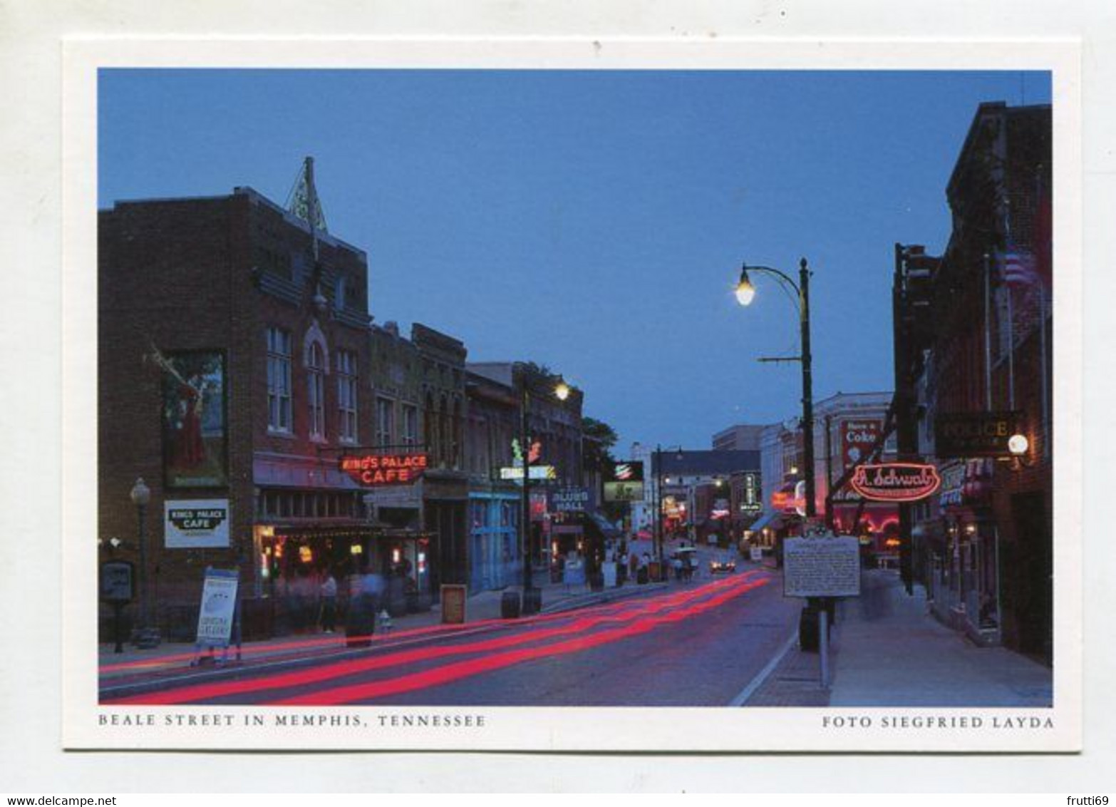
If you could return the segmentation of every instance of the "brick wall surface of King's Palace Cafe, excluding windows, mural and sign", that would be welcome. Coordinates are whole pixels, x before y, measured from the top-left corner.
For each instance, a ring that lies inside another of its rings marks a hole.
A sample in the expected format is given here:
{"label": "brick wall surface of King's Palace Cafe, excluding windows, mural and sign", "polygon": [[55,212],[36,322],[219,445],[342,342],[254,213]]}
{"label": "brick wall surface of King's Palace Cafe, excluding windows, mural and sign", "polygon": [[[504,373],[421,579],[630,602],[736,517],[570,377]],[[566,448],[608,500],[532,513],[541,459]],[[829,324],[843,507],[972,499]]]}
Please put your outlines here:
{"label": "brick wall surface of King's Palace Cafe, excluding windows, mural and sign", "polygon": [[[136,478],[151,488],[145,531],[148,590],[164,631],[189,633],[206,566],[237,568],[241,592],[258,601],[279,571],[262,555],[263,523],[312,531],[357,528],[359,489],[336,470],[339,350],[368,375],[367,266],[364,253],[320,233],[318,260],[308,225],[250,189],[228,196],[122,202],[99,215],[98,532],[124,541],[118,559],[138,560]],[[267,329],[290,335],[289,433],[269,427]],[[324,434],[309,430],[310,344],[324,348]],[[218,350],[225,361],[228,483],[167,489],[162,385],[156,357]],[[369,427],[371,396],[358,393],[356,442]],[[227,548],[165,546],[164,502],[229,501]],[[314,564],[329,564],[320,557]],[[289,563],[290,558],[286,563]],[[307,566],[311,566],[307,564]],[[307,571],[302,569],[300,571]],[[246,605],[249,631],[271,631],[271,614]]]}

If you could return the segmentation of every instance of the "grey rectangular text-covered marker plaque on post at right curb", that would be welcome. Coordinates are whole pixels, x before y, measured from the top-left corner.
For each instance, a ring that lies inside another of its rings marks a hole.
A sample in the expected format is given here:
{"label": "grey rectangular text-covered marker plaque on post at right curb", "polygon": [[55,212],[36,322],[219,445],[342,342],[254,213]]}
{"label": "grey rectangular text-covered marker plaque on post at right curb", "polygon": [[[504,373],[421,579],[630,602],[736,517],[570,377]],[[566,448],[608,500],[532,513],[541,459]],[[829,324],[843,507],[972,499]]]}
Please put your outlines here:
{"label": "grey rectangular text-covered marker plaque on post at right curb", "polygon": [[785,597],[860,594],[860,546],[853,536],[787,538],[782,546]]}

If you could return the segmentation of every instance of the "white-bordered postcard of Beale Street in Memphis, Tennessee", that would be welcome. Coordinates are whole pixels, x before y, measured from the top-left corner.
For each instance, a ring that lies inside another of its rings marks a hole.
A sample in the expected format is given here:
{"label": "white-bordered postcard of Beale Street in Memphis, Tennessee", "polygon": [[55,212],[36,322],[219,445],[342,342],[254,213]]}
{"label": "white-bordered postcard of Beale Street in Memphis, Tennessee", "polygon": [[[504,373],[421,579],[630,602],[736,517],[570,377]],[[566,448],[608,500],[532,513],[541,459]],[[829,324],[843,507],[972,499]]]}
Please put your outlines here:
{"label": "white-bordered postcard of Beale Street in Memphis, Tennessee", "polygon": [[1078,70],[67,41],[66,748],[1080,750]]}

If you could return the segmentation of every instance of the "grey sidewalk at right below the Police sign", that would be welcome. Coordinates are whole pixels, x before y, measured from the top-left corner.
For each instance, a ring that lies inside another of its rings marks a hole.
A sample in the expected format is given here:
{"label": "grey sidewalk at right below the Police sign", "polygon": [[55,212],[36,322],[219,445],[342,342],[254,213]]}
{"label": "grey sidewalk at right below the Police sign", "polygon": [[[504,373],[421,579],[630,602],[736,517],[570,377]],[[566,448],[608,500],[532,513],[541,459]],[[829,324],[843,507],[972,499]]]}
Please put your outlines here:
{"label": "grey sidewalk at right below the Police sign", "polygon": [[894,571],[870,570],[859,597],[841,602],[828,692],[817,653],[793,645],[748,707],[1014,707],[1052,702],[1051,671],[1004,647],[978,647],[907,596]]}

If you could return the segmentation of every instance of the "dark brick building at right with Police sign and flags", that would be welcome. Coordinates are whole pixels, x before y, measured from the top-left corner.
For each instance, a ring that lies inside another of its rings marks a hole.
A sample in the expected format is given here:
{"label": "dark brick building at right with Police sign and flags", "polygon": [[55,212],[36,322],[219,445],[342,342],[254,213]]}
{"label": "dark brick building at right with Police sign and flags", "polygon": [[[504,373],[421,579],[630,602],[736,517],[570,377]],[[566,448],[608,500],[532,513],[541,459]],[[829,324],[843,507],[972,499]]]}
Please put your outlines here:
{"label": "dark brick building at right with Police sign and flags", "polygon": [[895,275],[899,452],[906,421],[943,480],[912,508],[916,571],[944,622],[1048,661],[1050,160],[1049,106],[982,104],[946,190],[945,252],[897,244]]}

